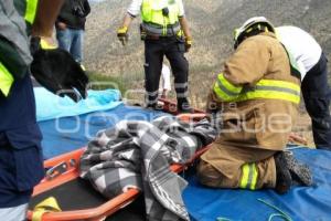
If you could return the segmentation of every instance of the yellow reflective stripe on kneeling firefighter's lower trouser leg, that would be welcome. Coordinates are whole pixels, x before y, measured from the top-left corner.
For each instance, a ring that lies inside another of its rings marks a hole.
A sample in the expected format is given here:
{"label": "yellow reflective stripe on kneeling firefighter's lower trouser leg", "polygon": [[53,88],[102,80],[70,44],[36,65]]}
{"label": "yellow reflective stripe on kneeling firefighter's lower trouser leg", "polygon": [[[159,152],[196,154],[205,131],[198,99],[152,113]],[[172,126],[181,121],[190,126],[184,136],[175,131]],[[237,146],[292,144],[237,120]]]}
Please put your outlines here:
{"label": "yellow reflective stripe on kneeling firefighter's lower trouser leg", "polygon": [[258,171],[255,164],[245,164],[242,167],[242,179],[239,187],[242,189],[256,189]]}

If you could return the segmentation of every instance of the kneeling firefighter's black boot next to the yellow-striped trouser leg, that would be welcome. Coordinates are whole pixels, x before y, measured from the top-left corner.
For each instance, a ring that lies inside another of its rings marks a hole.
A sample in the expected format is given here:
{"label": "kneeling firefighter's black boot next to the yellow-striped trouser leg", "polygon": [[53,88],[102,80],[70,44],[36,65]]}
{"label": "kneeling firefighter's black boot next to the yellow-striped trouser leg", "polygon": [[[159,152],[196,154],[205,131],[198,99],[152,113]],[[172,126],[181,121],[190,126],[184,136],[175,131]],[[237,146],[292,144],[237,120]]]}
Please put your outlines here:
{"label": "kneeling firefighter's black boot next to the yellow-striped trouser leg", "polygon": [[280,151],[274,156],[275,164],[276,164],[276,192],[279,194],[286,193],[291,185],[292,178],[290,171],[287,166],[287,161],[285,158],[285,152]]}

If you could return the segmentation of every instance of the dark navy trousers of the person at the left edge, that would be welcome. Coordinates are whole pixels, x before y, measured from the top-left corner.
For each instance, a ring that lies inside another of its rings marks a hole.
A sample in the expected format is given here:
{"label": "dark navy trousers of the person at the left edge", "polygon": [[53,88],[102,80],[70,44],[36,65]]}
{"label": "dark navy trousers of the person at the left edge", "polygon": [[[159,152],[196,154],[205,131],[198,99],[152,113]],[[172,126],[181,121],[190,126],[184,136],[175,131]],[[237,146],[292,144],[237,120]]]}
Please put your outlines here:
{"label": "dark navy trousers of the person at the left edge", "polygon": [[14,82],[8,97],[0,95],[0,208],[28,203],[43,178],[41,139],[26,74]]}

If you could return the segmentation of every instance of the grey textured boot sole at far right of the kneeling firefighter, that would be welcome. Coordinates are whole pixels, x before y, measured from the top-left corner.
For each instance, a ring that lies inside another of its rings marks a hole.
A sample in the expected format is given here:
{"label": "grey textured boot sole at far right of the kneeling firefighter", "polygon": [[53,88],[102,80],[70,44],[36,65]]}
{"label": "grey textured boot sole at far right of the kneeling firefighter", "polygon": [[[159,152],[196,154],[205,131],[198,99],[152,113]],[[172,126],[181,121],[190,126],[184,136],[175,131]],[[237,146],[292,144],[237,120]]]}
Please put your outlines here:
{"label": "grey textured boot sole at far right of the kneeling firefighter", "polygon": [[312,185],[311,172],[307,165],[298,162],[291,152],[285,152],[285,159],[295,185],[308,187]]}

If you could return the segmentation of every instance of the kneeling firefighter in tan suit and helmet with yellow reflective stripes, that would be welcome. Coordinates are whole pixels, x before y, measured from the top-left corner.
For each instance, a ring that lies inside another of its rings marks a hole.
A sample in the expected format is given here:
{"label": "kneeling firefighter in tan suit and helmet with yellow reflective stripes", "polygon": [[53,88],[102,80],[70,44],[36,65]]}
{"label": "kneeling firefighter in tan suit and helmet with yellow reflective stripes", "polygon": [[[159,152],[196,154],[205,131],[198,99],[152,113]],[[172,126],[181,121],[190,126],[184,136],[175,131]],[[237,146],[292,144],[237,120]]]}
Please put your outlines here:
{"label": "kneeling firefighter in tan suit and helmet with yellow reflective stripes", "polygon": [[220,137],[201,156],[197,177],[216,188],[284,193],[292,180],[311,183],[309,168],[284,151],[298,115],[300,78],[264,17],[235,31],[234,54],[209,94]]}

